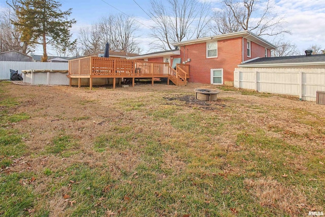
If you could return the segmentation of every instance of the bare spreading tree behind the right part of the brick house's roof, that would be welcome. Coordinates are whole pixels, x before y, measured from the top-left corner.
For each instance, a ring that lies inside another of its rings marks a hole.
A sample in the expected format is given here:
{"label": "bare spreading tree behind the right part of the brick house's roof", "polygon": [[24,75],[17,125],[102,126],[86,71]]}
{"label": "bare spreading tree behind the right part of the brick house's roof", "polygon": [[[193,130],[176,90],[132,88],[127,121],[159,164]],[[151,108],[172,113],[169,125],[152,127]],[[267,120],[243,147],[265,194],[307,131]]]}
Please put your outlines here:
{"label": "bare spreading tree behind the right part of the brick house's roof", "polygon": [[[282,28],[284,20],[279,17],[270,0],[223,0],[222,13],[215,13],[214,21],[220,33],[250,30],[258,36],[277,36],[289,33]],[[220,30],[219,30],[220,29]]]}

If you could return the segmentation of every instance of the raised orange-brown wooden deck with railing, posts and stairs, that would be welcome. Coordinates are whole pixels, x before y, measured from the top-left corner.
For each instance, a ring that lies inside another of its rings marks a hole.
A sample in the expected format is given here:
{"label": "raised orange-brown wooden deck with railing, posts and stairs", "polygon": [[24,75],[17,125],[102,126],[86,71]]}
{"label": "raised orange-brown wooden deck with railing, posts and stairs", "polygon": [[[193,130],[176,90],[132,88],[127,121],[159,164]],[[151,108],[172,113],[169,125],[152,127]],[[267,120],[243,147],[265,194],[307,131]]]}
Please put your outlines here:
{"label": "raised orange-brown wooden deck with railing, posts and stairs", "polygon": [[89,88],[92,88],[93,78],[113,78],[113,88],[116,87],[116,78],[132,78],[132,86],[135,79],[168,78],[176,85],[186,85],[189,78],[189,66],[178,64],[176,70],[169,63],[158,63],[141,60],[128,60],[105,57],[83,57],[69,61],[70,86],[72,78],[78,78],[80,87],[81,78],[89,78]]}

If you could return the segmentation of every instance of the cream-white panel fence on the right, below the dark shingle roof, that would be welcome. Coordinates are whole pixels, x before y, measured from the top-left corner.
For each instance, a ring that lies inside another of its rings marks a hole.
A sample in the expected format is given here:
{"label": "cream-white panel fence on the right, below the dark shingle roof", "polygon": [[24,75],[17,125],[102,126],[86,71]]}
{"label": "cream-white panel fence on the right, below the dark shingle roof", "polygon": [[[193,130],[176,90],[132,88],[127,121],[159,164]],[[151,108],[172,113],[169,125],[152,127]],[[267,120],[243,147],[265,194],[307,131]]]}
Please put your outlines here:
{"label": "cream-white panel fence on the right, below the dark shingle roof", "polygon": [[316,91],[325,91],[325,69],[236,68],[234,86],[316,101]]}

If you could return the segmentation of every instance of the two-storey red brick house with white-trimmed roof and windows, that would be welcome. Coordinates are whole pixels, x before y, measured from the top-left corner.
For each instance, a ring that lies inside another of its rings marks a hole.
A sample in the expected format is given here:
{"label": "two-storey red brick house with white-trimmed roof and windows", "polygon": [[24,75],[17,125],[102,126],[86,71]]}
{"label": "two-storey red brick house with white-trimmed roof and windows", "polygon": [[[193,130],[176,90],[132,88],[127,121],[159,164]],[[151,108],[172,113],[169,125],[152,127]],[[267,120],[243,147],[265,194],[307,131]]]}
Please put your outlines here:
{"label": "two-storey red brick house with white-trimmed roof and windows", "polygon": [[276,47],[249,32],[237,32],[174,43],[178,50],[155,52],[129,59],[174,61],[189,65],[189,82],[234,85],[234,69],[256,57],[269,57]]}

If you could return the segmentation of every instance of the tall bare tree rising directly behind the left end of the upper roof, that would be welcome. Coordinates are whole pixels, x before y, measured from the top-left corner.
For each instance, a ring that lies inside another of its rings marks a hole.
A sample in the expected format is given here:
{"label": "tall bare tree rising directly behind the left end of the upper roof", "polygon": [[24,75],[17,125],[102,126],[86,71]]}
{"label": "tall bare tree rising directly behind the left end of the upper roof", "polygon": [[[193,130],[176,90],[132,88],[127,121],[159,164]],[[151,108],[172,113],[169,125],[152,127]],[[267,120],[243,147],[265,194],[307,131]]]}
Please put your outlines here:
{"label": "tall bare tree rising directly behind the left end of the upper roof", "polygon": [[151,36],[156,47],[172,49],[172,43],[183,39],[200,38],[204,34],[210,5],[196,0],[151,0],[150,16],[155,26]]}

